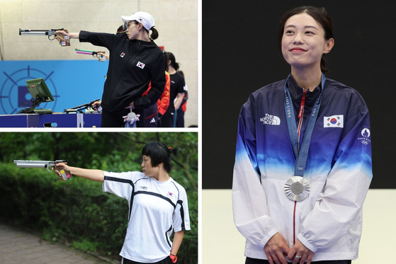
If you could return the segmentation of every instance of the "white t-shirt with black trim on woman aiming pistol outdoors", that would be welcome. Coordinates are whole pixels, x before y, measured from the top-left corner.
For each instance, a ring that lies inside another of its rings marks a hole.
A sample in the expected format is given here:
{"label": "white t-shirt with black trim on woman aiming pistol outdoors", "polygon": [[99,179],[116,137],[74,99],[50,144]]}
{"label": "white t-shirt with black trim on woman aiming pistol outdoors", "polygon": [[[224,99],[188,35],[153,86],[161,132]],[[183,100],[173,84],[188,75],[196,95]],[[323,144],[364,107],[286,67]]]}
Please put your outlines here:
{"label": "white t-shirt with black trim on woman aiming pistol outdoors", "polygon": [[190,230],[186,190],[172,178],[160,182],[145,173],[105,171],[103,192],[128,200],[128,229],[120,256],[152,263],[169,256],[172,231]]}

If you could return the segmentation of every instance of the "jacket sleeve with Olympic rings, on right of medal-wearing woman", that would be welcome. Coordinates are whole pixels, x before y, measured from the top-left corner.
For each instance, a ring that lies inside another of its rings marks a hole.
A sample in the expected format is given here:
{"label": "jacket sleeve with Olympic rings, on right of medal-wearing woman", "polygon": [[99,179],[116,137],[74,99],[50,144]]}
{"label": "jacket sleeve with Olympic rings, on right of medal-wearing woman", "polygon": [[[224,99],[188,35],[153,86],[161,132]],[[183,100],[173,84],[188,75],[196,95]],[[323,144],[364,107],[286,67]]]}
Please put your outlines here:
{"label": "jacket sleeve with Olympic rings, on right of medal-wearing woman", "polygon": [[[351,230],[351,226],[361,222],[373,173],[368,110],[363,99],[356,99],[344,122],[350,127],[344,127],[346,134],[339,143],[323,192],[298,234],[298,239],[314,252],[332,246],[347,232],[361,232]],[[361,224],[357,226],[361,229]]]}

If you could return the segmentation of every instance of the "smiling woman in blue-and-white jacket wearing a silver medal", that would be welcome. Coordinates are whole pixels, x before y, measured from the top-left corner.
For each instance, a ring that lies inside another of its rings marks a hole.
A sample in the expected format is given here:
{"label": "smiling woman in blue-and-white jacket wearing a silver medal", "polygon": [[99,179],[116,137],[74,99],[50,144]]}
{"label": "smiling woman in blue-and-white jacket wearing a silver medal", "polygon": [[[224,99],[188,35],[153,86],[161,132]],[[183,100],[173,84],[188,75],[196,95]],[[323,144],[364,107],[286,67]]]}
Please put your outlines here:
{"label": "smiling woman in blue-and-white jacket wearing a silver medal", "polygon": [[334,46],[324,8],[286,12],[278,40],[291,74],[239,115],[232,198],[246,263],[351,263],[373,177],[368,109],[323,74]]}

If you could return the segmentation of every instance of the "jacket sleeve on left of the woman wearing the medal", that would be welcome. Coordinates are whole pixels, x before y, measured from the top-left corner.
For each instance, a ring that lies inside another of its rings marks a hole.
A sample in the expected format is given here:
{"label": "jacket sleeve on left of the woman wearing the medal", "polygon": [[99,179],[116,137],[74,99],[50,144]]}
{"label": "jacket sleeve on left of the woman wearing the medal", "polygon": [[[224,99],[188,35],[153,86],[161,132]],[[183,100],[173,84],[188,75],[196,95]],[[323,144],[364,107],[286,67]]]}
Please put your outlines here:
{"label": "jacket sleeve on left of the woman wearing the medal", "polygon": [[268,215],[266,193],[256,163],[254,113],[251,113],[254,110],[251,110],[250,102],[242,106],[239,115],[232,207],[239,232],[247,241],[264,248],[277,230]]}

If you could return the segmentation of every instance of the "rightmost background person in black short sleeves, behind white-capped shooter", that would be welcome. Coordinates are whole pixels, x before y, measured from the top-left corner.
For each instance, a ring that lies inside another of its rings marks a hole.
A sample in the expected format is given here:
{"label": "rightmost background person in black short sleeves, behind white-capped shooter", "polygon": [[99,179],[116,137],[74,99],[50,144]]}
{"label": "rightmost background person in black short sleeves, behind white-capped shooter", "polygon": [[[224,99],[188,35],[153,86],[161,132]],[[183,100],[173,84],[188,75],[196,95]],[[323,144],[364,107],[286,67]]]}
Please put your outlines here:
{"label": "rightmost background person in black short sleeves, behind white-capped shooter", "polygon": [[168,73],[171,76],[171,96],[169,98],[168,109],[162,117],[162,127],[175,127],[176,110],[179,109],[181,102],[183,101],[186,81],[184,81],[183,75],[179,73],[179,63],[176,62],[174,54],[166,52],[166,57],[168,57]]}

